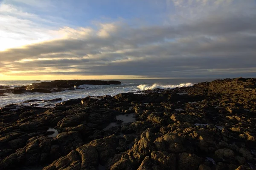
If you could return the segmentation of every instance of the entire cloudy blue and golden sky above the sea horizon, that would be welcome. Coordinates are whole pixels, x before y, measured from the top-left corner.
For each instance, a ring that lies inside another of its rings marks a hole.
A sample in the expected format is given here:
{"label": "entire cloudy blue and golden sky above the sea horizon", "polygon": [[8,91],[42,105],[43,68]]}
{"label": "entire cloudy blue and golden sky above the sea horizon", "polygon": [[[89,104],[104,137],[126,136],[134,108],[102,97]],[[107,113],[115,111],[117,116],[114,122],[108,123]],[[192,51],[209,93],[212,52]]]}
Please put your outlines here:
{"label": "entire cloudy blue and golden sky above the sea horizon", "polygon": [[0,80],[256,77],[256,0],[0,0]]}

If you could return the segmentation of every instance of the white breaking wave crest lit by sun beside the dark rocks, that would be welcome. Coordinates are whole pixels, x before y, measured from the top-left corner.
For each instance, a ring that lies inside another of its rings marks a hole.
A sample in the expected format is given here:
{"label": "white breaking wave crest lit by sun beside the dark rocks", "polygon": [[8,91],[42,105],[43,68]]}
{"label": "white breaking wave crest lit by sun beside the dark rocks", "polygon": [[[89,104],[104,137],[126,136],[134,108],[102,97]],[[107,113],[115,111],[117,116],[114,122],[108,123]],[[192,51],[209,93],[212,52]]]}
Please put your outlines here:
{"label": "white breaking wave crest lit by sun beside the dark rocks", "polygon": [[174,89],[176,87],[188,87],[188,86],[193,86],[192,83],[181,83],[177,85],[162,85],[162,84],[153,84],[153,85],[148,85],[148,84],[140,84],[137,86],[140,90],[149,90],[149,89]]}

